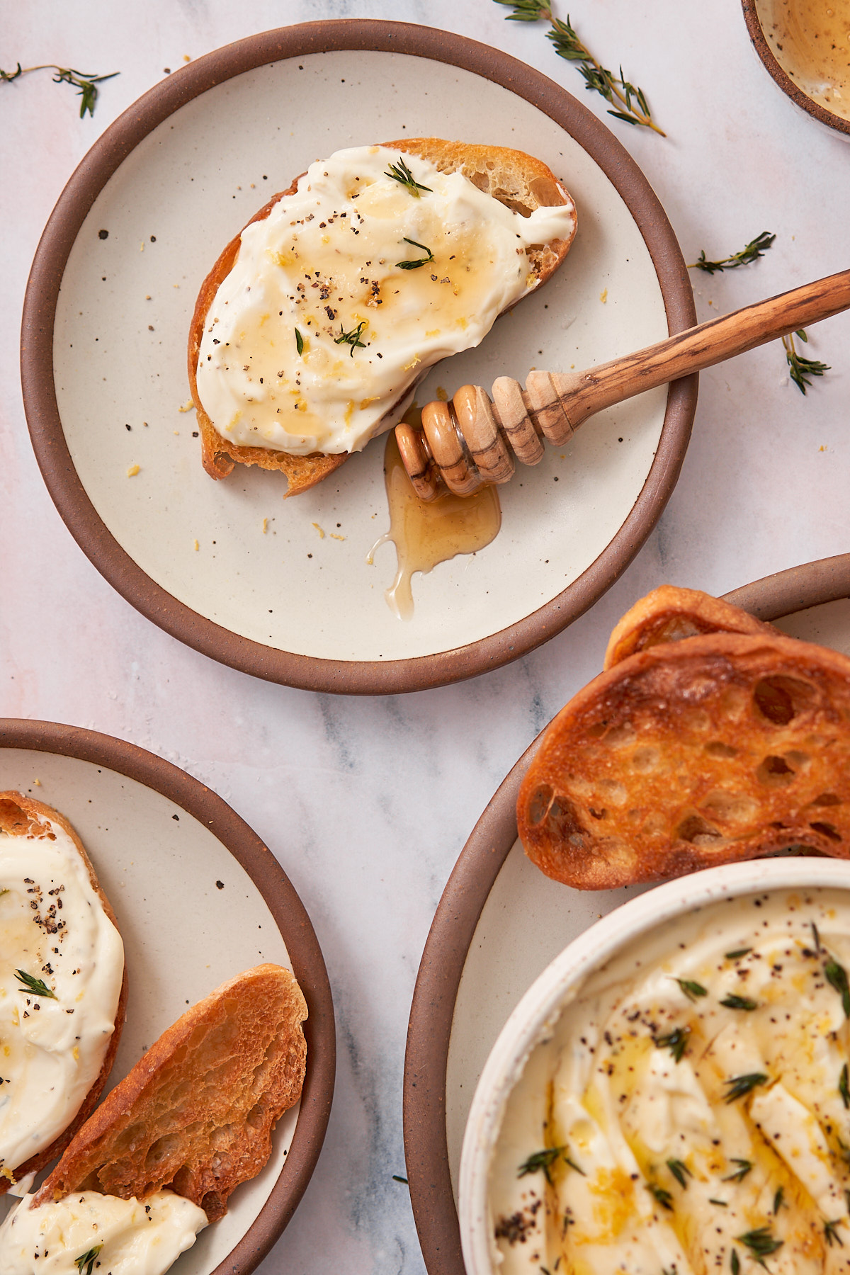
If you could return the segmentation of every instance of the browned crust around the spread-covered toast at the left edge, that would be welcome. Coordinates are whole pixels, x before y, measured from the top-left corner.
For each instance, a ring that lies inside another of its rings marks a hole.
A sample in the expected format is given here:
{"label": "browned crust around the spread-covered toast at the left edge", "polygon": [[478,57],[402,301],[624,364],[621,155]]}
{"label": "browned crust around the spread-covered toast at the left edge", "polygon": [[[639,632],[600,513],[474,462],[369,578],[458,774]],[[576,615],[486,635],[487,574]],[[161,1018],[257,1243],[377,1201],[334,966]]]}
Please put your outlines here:
{"label": "browned crust around the spread-covered toast at the left edge", "polygon": [[[70,839],[76,848],[78,854],[85,864],[85,870],[92,882],[92,889],[96,891],[103,910],[115,926],[115,928],[121,933],[119,928],[119,922],[116,919],[115,912],[112,910],[112,904],[103,894],[101,882],[97,878],[97,873],[92,866],[92,861],[85,853],[85,847],[80,841],[79,836],[65,819],[60,815],[57,810],[51,806],[46,806],[43,802],[34,801],[32,797],[24,797],[19,792],[3,792],[0,793],[0,831],[8,833],[10,836],[47,836],[48,829],[47,822],[57,824],[62,831],[68,833]],[[70,1122],[68,1128],[59,1135],[55,1141],[46,1146],[43,1151],[38,1151],[37,1155],[32,1155],[23,1164],[19,1164],[14,1169],[15,1179],[20,1181],[28,1173],[38,1173],[55,1160],[57,1155],[61,1155],[65,1148],[69,1145],[74,1135],[85,1123],[88,1117],[94,1111],[97,1100],[103,1091],[103,1086],[107,1081],[110,1072],[112,1071],[112,1063],[115,1062],[115,1056],[119,1052],[119,1044],[121,1042],[121,1031],[124,1030],[124,1021],[126,1017],[127,1009],[127,966],[126,961],[124,964],[124,975],[121,979],[121,992],[119,996],[119,1007],[115,1014],[115,1030],[110,1038],[110,1044],[103,1058],[103,1065],[98,1072],[94,1084],[89,1089],[88,1094],[83,1099],[83,1103],[76,1112],[74,1119]],[[13,1186],[6,1178],[0,1178],[0,1195],[4,1195],[9,1187]]]}

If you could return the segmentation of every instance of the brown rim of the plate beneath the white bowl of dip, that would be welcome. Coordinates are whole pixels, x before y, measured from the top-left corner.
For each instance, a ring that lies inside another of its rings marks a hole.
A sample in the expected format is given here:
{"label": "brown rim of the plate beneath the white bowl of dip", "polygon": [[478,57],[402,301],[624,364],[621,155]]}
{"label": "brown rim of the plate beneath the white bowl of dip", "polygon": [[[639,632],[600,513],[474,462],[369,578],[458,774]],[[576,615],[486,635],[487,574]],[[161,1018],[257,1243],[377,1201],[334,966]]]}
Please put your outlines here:
{"label": "brown rim of the plate beneath the white bowl of dip", "polygon": [[[724,601],[758,620],[850,597],[850,553],[753,580]],[[548,725],[548,723],[547,723]],[[484,807],[442,892],[417,974],[404,1057],[404,1150],[410,1204],[429,1275],[465,1275],[449,1169],[446,1067],[464,964],[482,910],[516,841],[516,798],[547,727]]]}

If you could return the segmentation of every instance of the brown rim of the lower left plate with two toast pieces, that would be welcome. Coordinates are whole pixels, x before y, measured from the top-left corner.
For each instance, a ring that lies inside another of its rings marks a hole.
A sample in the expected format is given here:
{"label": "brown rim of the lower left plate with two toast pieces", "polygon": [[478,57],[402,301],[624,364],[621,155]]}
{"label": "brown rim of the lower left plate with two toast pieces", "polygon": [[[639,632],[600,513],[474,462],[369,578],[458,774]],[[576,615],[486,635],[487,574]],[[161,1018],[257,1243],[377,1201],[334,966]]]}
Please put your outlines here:
{"label": "brown rim of the lower left plate with two toast pieces", "polygon": [[308,1067],[292,1144],[278,1179],[249,1230],[210,1271],[210,1275],[250,1275],[282,1235],[307,1188],[334,1096],[334,1005],[325,959],[307,910],[278,859],[249,824],[212,788],[164,757],[99,731],[32,718],[0,718],[0,748],[88,761],[134,779],[180,806],[209,829],[245,868],[278,926],[307,1001]]}

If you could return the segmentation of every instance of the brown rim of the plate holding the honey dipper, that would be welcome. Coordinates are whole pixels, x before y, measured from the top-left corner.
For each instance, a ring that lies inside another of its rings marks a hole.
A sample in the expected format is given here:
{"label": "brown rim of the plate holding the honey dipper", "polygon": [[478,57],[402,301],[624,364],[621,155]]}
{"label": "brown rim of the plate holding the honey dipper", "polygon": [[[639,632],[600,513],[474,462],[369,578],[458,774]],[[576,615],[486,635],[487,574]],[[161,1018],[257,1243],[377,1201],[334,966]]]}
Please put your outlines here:
{"label": "brown rim of the plate holding the honey dipper", "polygon": [[65,442],[56,403],[52,347],[56,302],[68,256],[110,177],[135,147],[181,106],[215,84],[268,62],[340,50],[410,54],[463,68],[537,106],[585,150],[593,143],[591,158],[624,200],[650,252],[669,332],[696,324],[687,266],[661,204],[635,159],[586,106],[525,62],[465,36],[413,23],[336,19],[260,32],[206,54],[155,84],[106,129],[59,196],[36,250],[23,306],[20,379],[33,450],[59,514],[89,561],[136,611],[201,654],[255,677],[301,690],[389,695],[445,686],[501,668],[553,638],[601,597],[635,557],[673,492],[696,412],[697,376],[669,386],[652,464],[610,543],[572,584],[543,607],[478,641],[393,660],[299,655],[233,634],[155,584],[121,548],[97,514]]}

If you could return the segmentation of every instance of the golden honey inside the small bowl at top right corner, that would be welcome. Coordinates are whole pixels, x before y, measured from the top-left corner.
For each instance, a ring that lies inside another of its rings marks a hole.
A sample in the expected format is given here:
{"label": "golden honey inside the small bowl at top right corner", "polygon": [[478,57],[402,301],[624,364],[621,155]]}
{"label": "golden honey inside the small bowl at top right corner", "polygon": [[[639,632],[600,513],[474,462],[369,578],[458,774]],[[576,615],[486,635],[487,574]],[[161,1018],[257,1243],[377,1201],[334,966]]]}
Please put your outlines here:
{"label": "golden honey inside the small bowl at top right corner", "polygon": [[782,70],[818,106],[850,120],[847,0],[758,0],[757,8]]}

